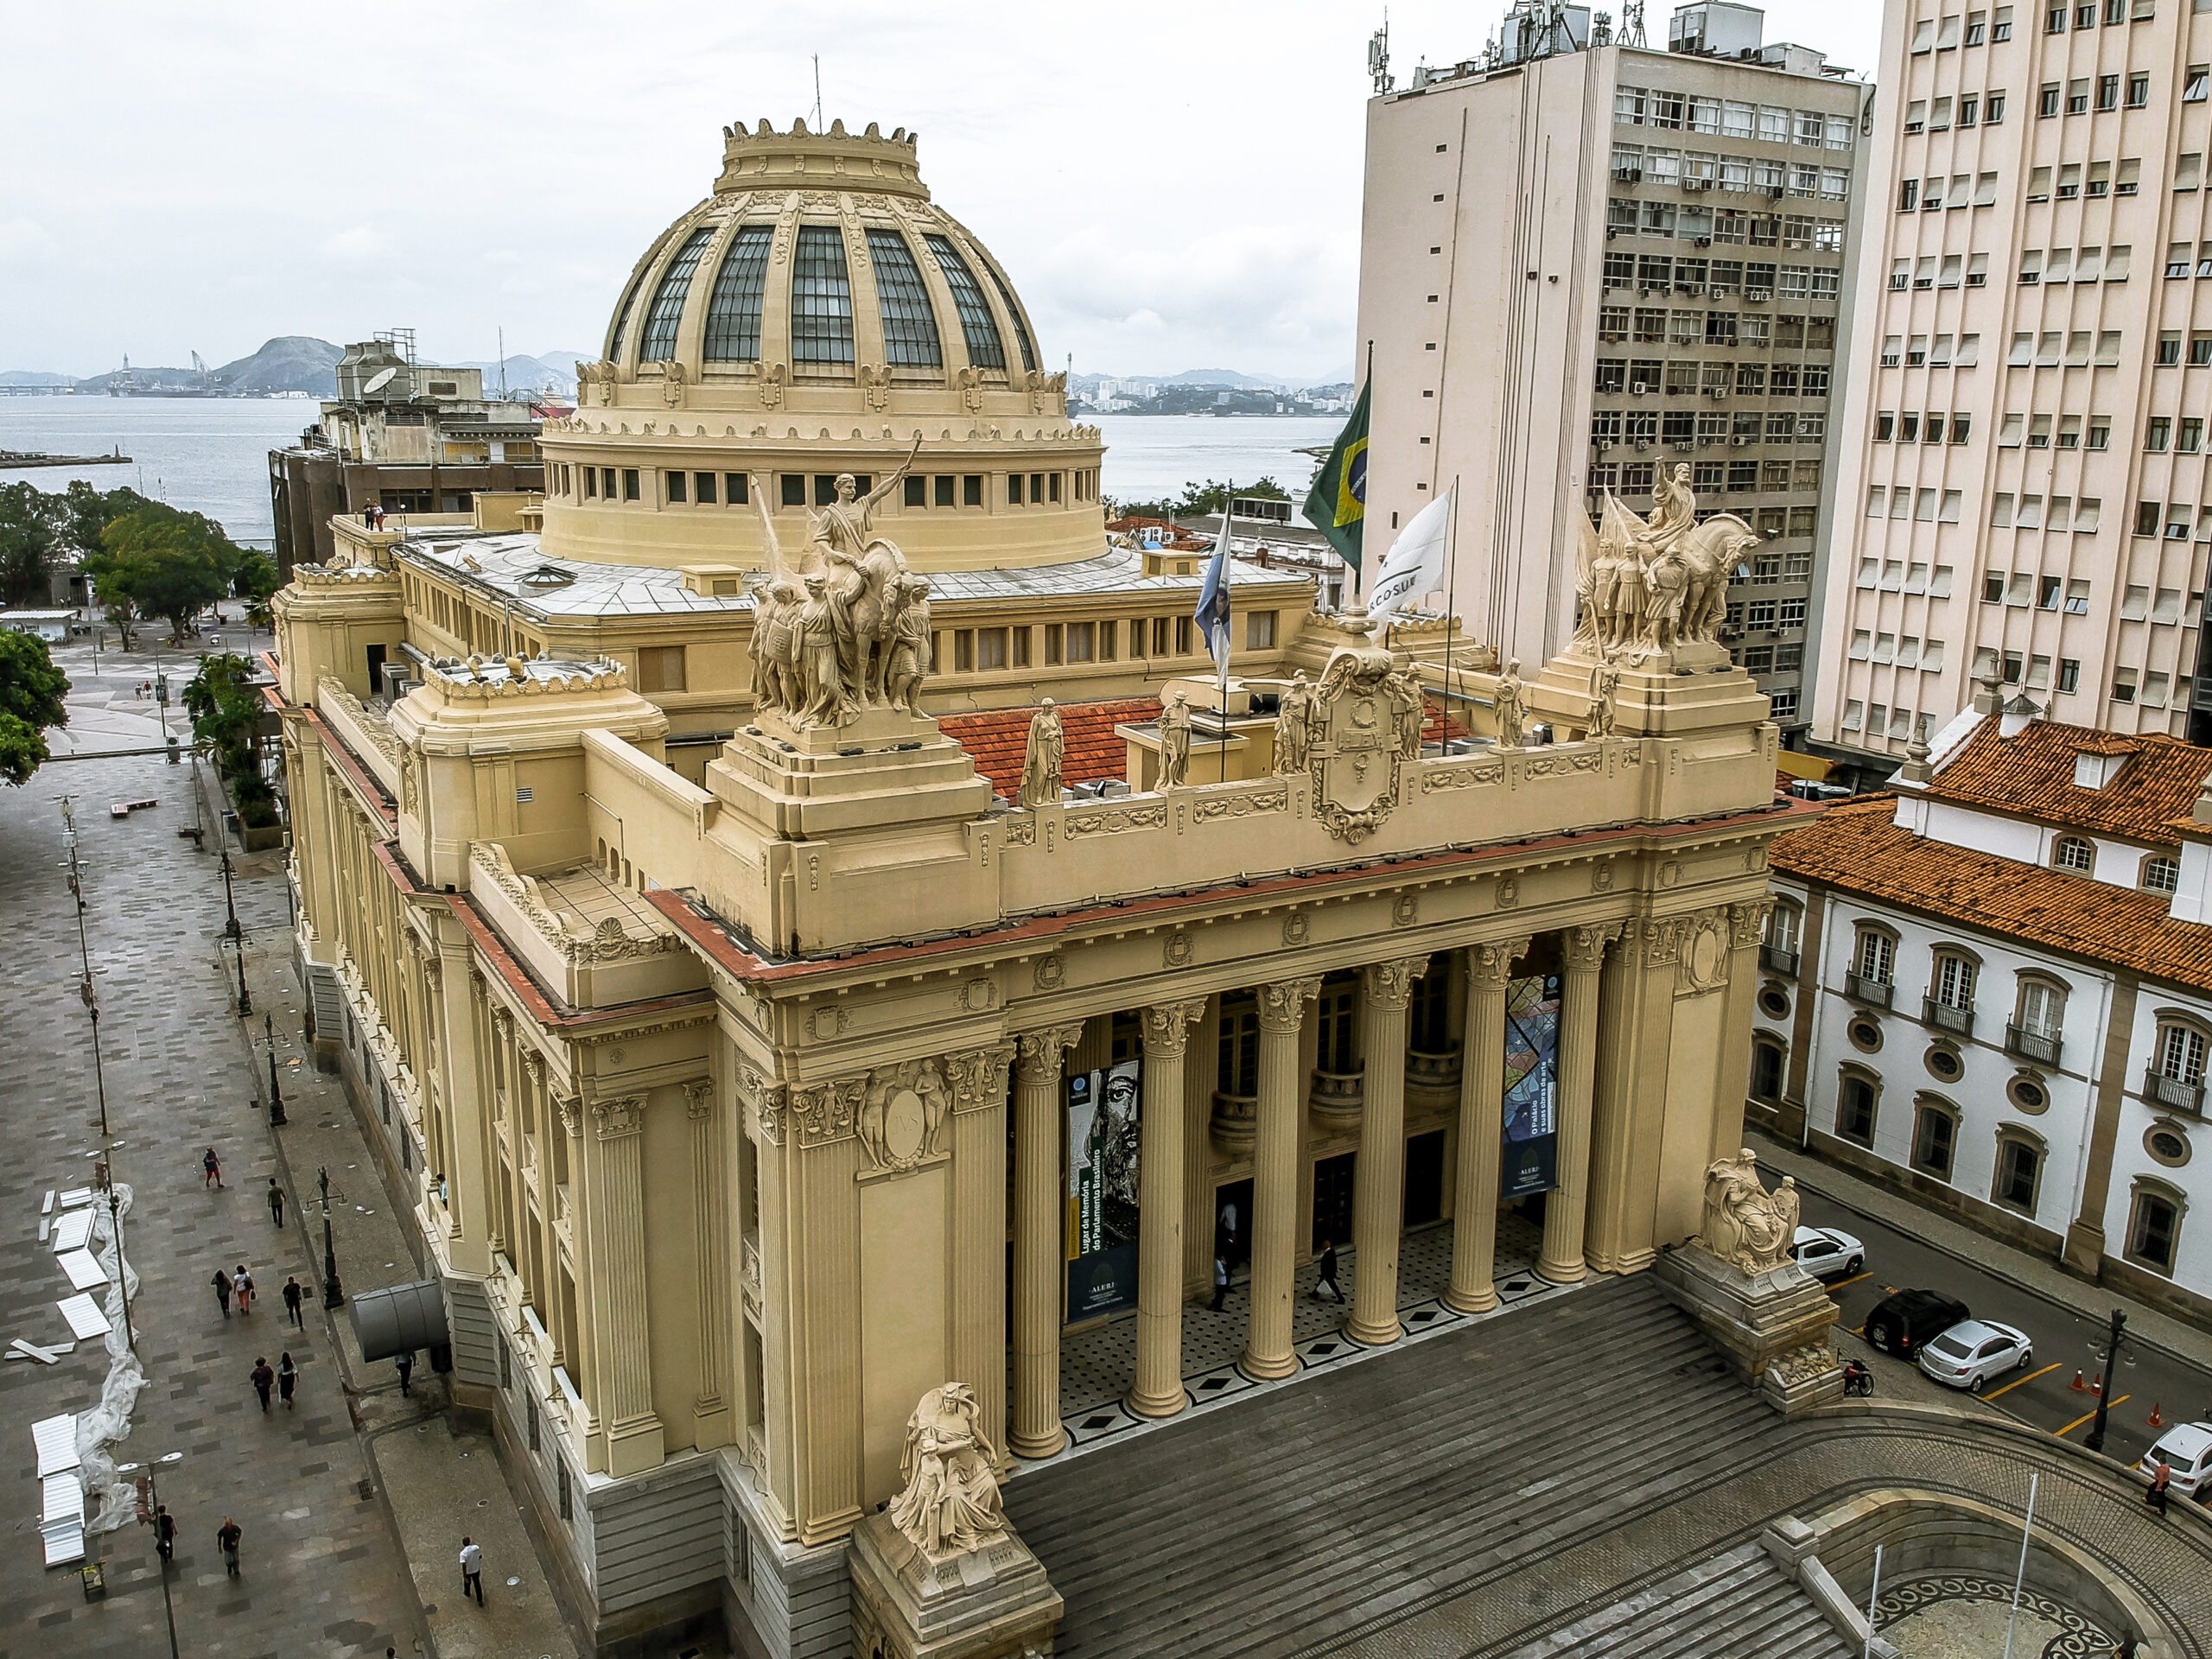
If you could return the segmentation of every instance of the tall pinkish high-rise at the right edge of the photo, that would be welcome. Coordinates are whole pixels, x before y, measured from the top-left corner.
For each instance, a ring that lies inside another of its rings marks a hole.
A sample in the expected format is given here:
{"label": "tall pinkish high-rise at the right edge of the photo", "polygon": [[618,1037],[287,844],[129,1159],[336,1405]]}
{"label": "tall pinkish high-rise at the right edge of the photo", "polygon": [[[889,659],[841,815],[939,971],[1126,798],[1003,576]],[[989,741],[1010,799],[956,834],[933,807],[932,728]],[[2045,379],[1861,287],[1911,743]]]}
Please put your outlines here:
{"label": "tall pinkish high-rise at the right edge of the photo", "polygon": [[2212,737],[2208,13],[1889,7],[1814,719],[1867,772],[1973,675]]}

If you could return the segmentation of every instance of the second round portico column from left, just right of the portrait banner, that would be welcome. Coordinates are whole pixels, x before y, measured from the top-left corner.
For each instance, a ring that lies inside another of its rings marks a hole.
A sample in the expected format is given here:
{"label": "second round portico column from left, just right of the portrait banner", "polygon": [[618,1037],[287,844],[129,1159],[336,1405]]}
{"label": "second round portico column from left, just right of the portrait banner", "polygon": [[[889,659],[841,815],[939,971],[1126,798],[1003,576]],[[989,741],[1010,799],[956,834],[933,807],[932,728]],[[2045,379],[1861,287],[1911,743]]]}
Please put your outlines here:
{"label": "second round portico column from left, just right of the portrait banner", "polygon": [[1137,1385],[1128,1409],[1183,1409],[1183,1048],[1206,998],[1144,1011],[1144,1146],[1137,1166]]}

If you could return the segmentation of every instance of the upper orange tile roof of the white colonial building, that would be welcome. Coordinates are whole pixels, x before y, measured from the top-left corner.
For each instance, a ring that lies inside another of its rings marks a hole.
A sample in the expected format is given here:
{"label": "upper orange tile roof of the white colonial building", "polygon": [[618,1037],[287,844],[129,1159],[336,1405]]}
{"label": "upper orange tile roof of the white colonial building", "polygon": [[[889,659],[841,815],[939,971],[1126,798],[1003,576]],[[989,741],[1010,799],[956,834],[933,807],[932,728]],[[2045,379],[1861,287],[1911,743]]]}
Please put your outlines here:
{"label": "upper orange tile roof of the white colonial building", "polygon": [[[2101,790],[2086,790],[2073,781],[2075,754],[2128,759]],[[2205,774],[2212,750],[2172,737],[2119,737],[2055,721],[2031,721],[2017,737],[2000,737],[1997,721],[1984,719],[1927,792],[1964,807],[2170,847],[2174,821],[2190,816]]]}

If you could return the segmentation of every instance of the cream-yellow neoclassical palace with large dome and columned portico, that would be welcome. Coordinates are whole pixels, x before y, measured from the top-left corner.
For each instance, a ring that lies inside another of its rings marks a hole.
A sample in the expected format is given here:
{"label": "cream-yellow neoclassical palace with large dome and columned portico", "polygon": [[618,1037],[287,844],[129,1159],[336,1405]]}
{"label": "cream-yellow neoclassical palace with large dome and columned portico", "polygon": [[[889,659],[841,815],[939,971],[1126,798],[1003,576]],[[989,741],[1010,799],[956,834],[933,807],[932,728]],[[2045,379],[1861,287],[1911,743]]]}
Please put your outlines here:
{"label": "cream-yellow neoclassical palace with large dome and columned portico", "polygon": [[1301,1371],[1323,1241],[1387,1347],[1697,1232],[1803,810],[1663,584],[1522,681],[1232,564],[1217,675],[907,133],[730,128],[584,367],[520,529],[332,524],[272,699],[316,1051],[602,1646],[843,1652],[947,1380],[1018,1482],[1077,1352]]}

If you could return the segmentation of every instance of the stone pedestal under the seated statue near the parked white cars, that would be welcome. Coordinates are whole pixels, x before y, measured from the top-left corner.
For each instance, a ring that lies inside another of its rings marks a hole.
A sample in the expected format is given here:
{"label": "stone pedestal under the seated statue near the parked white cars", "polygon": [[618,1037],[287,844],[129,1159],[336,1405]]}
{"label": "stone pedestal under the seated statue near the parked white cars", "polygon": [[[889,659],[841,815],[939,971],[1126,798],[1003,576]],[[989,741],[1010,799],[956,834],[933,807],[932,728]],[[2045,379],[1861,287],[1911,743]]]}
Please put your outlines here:
{"label": "stone pedestal under the seated statue near the parked white cars", "polygon": [[1759,1396],[1785,1418],[1843,1398],[1836,1303],[1785,1261],[1747,1274],[1697,1243],[1661,1250],[1652,1276]]}

